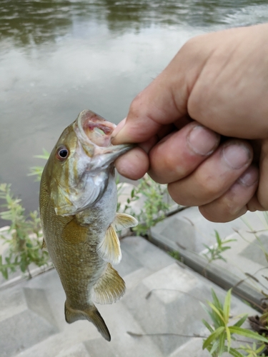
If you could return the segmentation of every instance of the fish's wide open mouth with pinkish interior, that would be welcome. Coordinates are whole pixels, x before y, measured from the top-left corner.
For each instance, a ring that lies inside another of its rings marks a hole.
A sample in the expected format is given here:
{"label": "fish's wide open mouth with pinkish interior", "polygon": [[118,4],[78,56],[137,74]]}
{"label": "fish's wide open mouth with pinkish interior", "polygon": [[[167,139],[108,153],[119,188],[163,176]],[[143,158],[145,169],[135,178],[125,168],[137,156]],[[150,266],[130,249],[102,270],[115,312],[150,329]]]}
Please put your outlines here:
{"label": "fish's wide open mouth with pinkish interior", "polygon": [[74,122],[74,130],[83,146],[91,146],[86,150],[89,156],[93,156],[94,147],[107,147],[111,145],[111,133],[116,125],[106,121],[94,113],[94,111],[81,111]]}

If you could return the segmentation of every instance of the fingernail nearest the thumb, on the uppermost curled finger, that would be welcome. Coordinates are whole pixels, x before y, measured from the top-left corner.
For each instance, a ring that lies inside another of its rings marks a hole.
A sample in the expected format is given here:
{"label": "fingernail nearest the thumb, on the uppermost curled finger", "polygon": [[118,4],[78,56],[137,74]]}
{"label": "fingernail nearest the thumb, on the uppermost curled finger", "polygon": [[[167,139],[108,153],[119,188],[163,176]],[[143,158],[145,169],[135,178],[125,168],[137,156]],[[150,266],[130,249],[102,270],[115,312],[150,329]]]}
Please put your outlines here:
{"label": "fingernail nearest the thumb, on the uppermost curled finger", "polygon": [[219,135],[201,125],[196,125],[189,132],[188,144],[194,153],[209,155],[219,144]]}

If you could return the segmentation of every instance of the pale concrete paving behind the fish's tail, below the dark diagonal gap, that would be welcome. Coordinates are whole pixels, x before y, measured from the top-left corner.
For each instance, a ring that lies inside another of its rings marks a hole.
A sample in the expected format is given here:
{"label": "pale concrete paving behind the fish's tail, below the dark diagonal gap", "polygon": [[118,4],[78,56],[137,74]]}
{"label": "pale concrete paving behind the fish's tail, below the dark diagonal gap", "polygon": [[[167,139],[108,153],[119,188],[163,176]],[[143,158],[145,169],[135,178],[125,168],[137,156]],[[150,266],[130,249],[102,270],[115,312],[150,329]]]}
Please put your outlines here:
{"label": "pale concrete paving behind the fish's tail, below the dark diagonal gap", "polygon": [[[126,295],[112,305],[98,305],[111,342],[88,321],[65,322],[64,291],[53,269],[1,289],[1,357],[209,356],[202,351],[202,338],[186,336],[207,335],[201,320],[209,318],[199,301],[211,301],[211,288],[222,299],[225,291],[144,238],[124,238],[121,248],[117,269]],[[233,297],[231,313],[256,311]]]}

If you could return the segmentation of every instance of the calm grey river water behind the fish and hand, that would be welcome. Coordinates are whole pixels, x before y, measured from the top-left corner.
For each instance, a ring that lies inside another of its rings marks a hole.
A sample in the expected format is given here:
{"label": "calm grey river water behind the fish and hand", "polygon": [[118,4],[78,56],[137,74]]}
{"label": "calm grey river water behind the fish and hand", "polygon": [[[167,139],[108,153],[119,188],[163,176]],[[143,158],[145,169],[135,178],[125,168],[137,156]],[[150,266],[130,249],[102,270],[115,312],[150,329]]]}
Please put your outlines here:
{"label": "calm grey river water behind the fish and hand", "polygon": [[33,156],[81,110],[117,124],[187,39],[267,21],[267,1],[1,0],[0,182],[36,209]]}

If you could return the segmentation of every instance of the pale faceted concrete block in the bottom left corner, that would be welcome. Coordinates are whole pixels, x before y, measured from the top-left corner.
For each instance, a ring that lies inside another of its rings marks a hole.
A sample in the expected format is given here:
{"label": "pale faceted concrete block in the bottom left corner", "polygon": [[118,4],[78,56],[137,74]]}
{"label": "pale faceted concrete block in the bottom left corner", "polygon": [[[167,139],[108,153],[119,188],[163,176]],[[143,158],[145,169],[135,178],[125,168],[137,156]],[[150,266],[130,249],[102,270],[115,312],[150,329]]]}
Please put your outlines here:
{"label": "pale faceted concrete block in the bottom left corner", "polygon": [[1,356],[15,356],[58,331],[44,290],[16,287],[1,292]]}

